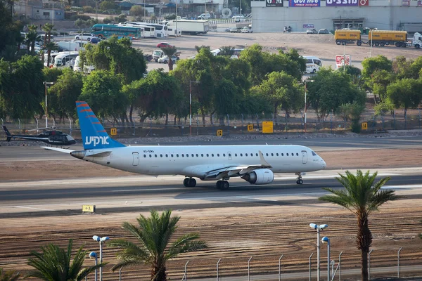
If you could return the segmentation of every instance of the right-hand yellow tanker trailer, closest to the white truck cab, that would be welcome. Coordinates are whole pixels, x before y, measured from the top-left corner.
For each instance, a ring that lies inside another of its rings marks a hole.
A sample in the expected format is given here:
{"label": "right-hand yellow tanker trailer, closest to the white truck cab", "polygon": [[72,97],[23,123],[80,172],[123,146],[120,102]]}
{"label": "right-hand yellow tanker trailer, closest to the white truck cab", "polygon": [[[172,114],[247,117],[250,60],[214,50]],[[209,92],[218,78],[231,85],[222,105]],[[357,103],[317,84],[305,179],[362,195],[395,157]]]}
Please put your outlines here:
{"label": "right-hand yellow tanker trailer, closest to the white truck cab", "polygon": [[371,30],[368,34],[368,44],[372,46],[395,45],[407,46],[407,32],[394,30]]}

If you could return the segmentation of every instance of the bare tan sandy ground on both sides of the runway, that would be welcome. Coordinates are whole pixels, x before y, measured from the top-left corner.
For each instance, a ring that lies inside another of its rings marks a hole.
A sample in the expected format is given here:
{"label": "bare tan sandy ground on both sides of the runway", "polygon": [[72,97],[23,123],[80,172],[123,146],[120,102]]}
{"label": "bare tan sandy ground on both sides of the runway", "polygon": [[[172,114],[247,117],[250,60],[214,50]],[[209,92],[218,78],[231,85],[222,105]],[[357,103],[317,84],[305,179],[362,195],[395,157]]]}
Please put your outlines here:
{"label": "bare tan sandy ground on both sides of the runway", "polygon": [[[421,150],[351,150],[341,152],[320,152],[331,169],[376,169],[382,167],[418,166]],[[400,161],[407,155],[406,161]],[[362,161],[364,159],[364,161]],[[0,163],[2,181],[17,181],[25,173],[25,180],[39,178],[68,178],[81,176],[122,176],[122,171],[96,166],[86,169],[90,163],[79,160],[60,162],[13,162]],[[53,171],[53,173],[51,172]],[[397,250],[401,251],[402,265],[422,263],[422,205],[417,198],[392,202],[371,215],[373,231],[372,266],[395,266]],[[178,233],[200,233],[209,243],[209,249],[198,253],[184,254],[170,261],[167,270],[172,280],[180,280],[184,264],[189,260],[190,277],[215,276],[215,263],[220,264],[221,276],[247,274],[247,261],[253,256],[252,274],[278,272],[279,256],[283,254],[283,272],[302,271],[308,268],[309,255],[316,255],[315,233],[309,230],[309,223],[327,223],[324,230],[331,239],[331,253],[334,257],[343,251],[342,268],[359,267],[359,251],[354,246],[356,233],[355,218],[332,204],[313,203],[268,204],[254,207],[227,207],[212,209],[175,210],[181,216]],[[65,245],[68,238],[75,240],[75,246],[85,244],[85,249],[98,251],[98,244],[91,240],[92,235],[108,235],[113,239],[128,235],[121,228],[122,221],[135,222],[139,212],[122,212],[101,215],[53,216],[37,218],[0,219],[0,267],[20,270],[30,269],[26,265],[31,250],[39,250],[42,244],[54,242]],[[115,249],[104,250],[104,259],[110,265],[104,270],[104,280],[116,280],[117,273],[110,272],[116,263]],[[326,261],[326,248],[321,250],[321,261]],[[315,260],[314,266],[315,266]],[[87,261],[87,264],[90,264]],[[321,266],[324,267],[325,263]],[[313,266],[313,267],[314,267]],[[148,280],[148,268],[124,268],[123,280]],[[314,273],[315,274],[315,273]],[[422,275],[407,273],[407,275]],[[388,275],[378,277],[388,277]],[[296,279],[298,280],[298,279]],[[357,280],[357,277],[343,280]]]}

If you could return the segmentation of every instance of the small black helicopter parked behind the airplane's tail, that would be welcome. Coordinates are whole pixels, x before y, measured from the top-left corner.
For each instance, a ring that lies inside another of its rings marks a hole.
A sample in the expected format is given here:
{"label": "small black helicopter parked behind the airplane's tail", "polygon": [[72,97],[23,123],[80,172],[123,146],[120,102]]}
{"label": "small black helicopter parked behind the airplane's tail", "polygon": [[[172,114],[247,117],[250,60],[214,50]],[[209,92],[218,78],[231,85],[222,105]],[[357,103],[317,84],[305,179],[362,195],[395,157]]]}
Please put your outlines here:
{"label": "small black helicopter parked behind the airplane's tail", "polygon": [[11,141],[12,138],[22,138],[28,141],[42,141],[43,143],[48,143],[49,145],[74,145],[76,143],[75,139],[72,136],[69,136],[67,133],[56,130],[45,130],[38,135],[12,135],[6,126],[3,126],[4,132],[6,133],[6,141]]}

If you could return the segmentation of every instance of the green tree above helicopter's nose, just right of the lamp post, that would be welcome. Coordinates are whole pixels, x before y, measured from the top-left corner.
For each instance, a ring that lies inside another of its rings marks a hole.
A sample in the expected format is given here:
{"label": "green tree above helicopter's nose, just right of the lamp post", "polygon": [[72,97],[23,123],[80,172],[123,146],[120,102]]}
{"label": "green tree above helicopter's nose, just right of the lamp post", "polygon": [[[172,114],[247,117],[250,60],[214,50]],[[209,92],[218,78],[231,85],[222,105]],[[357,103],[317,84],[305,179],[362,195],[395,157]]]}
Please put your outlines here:
{"label": "green tree above helicopter's nose, just right of the lamp post", "polygon": [[82,86],[82,74],[67,67],[49,88],[49,96],[55,98],[55,103],[50,105],[51,112],[57,114],[61,121],[64,122],[65,117],[76,119],[75,100],[82,93]]}

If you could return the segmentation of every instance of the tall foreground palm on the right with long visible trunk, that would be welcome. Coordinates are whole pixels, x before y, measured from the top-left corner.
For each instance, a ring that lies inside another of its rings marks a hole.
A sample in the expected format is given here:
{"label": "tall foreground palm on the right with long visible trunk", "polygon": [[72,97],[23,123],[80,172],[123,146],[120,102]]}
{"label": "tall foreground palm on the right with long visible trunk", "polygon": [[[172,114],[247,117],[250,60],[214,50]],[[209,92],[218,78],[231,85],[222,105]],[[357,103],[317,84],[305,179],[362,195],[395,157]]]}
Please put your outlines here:
{"label": "tall foreground palm on the right with long visible trunk", "polygon": [[356,176],[350,171],[346,175],[340,175],[337,181],[344,186],[345,190],[333,190],[324,188],[333,195],[324,195],[319,200],[338,204],[352,211],[357,216],[357,249],[362,251],[362,281],[368,280],[368,252],[372,244],[372,233],[369,230],[368,217],[372,211],[378,210],[382,204],[388,201],[397,200],[402,196],[395,195],[395,190],[381,190],[381,187],[390,181],[390,177],[381,178],[373,184],[377,172],[370,175],[357,170]]}

